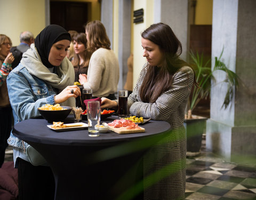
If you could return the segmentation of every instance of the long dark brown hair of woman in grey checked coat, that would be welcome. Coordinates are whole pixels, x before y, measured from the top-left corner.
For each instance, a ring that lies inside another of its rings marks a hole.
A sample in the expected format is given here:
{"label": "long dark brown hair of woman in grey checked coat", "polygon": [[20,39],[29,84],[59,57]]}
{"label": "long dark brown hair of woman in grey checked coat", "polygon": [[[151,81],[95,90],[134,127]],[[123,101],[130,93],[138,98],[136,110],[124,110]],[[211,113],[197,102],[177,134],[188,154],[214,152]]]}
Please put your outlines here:
{"label": "long dark brown hair of woman in grey checked coat", "polygon": [[171,27],[164,23],[155,23],[142,32],[141,37],[159,46],[163,53],[163,66],[147,66],[147,73],[140,89],[143,102],[153,103],[165,91],[169,90],[174,73],[188,63],[179,59],[182,46]]}

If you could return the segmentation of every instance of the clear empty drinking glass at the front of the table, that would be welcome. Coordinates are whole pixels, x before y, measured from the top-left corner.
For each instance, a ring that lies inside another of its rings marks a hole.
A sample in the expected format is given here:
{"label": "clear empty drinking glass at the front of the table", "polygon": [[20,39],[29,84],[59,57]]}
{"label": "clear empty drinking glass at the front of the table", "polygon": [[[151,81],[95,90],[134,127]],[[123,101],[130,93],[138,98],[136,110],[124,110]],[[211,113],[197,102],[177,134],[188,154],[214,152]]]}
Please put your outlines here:
{"label": "clear empty drinking glass at the front of the table", "polygon": [[88,132],[89,136],[97,137],[100,135],[95,125],[100,125],[100,102],[88,101],[87,102],[87,119],[88,119]]}

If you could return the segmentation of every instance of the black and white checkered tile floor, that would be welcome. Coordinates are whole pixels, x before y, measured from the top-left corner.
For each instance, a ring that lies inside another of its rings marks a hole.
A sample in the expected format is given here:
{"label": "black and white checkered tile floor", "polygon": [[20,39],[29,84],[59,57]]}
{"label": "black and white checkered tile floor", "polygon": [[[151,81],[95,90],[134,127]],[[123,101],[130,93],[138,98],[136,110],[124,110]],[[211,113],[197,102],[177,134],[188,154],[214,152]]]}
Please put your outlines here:
{"label": "black and white checkered tile floor", "polygon": [[[5,161],[13,161],[12,148],[6,149]],[[227,163],[205,151],[203,136],[201,154],[187,157],[187,200],[256,200],[256,163],[241,166]]]}

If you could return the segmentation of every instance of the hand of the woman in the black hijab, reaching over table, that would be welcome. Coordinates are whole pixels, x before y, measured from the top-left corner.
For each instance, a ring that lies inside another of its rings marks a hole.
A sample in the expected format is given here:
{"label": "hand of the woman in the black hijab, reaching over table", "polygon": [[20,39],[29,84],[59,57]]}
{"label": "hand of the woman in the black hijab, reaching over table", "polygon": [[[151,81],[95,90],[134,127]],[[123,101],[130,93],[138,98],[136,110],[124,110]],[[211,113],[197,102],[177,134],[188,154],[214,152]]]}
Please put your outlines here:
{"label": "hand of the woman in the black hijab, reaching over table", "polygon": [[54,100],[55,103],[62,103],[70,97],[77,98],[78,96],[81,96],[81,90],[79,89],[79,87],[77,87],[77,85],[70,85],[62,90],[61,93],[55,95]]}

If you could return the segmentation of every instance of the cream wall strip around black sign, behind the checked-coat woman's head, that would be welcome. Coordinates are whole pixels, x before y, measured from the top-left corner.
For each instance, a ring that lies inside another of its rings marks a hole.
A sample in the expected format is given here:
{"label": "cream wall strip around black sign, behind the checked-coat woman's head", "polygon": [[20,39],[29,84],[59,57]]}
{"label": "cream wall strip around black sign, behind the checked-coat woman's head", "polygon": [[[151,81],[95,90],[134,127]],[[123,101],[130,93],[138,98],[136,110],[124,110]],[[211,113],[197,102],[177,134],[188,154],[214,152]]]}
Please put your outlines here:
{"label": "cream wall strip around black sign, behind the checked-coat woman's head", "polygon": [[[146,59],[142,57],[141,32],[153,23],[153,5],[154,0],[134,0],[133,10],[144,10],[143,23],[133,23],[133,86],[137,83],[140,71],[146,63]],[[133,14],[133,13],[132,13]]]}

